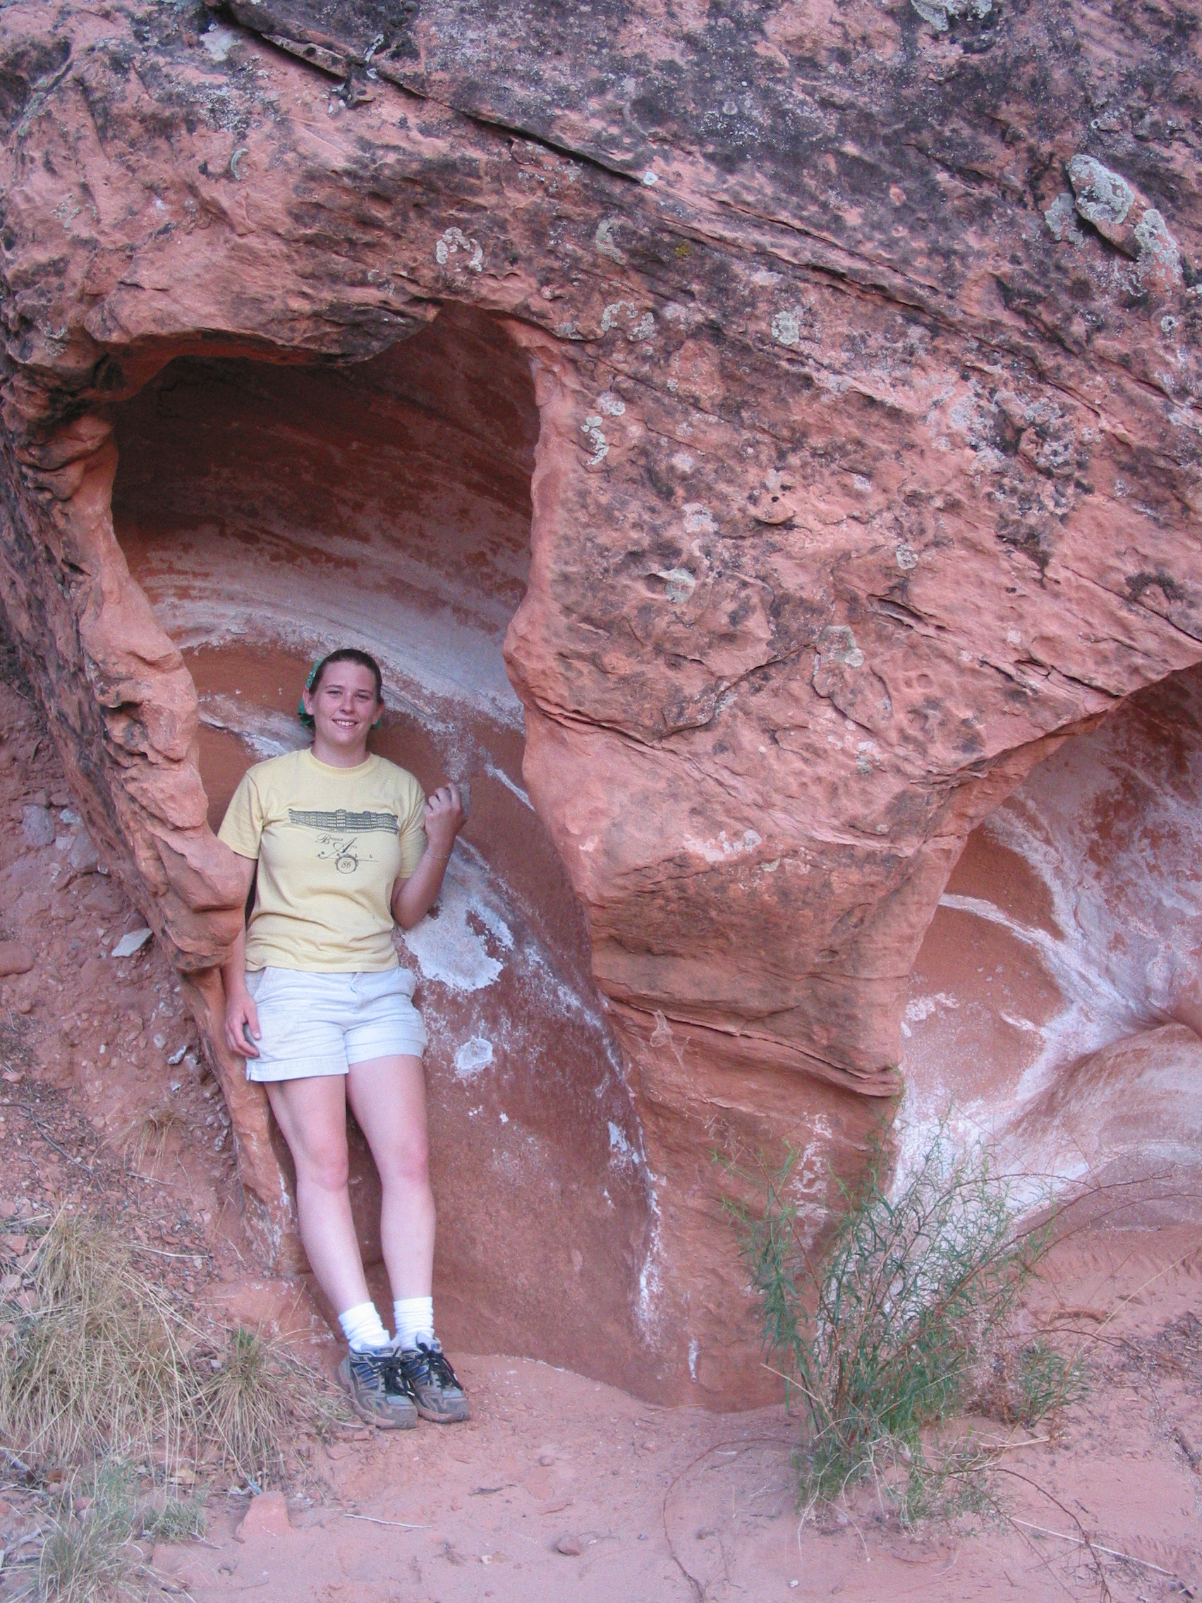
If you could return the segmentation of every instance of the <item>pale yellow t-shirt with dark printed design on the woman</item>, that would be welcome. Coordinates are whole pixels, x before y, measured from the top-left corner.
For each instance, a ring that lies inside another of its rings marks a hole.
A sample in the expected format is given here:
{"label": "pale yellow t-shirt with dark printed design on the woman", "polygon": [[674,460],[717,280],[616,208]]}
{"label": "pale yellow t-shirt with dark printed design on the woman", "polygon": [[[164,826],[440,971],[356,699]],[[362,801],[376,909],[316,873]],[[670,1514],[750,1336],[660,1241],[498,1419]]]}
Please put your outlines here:
{"label": "pale yellow t-shirt with dark printed design on the woman", "polygon": [[258,858],[247,968],[396,968],[393,886],[426,850],[425,805],[383,757],[330,768],[305,750],[248,768],[218,830]]}

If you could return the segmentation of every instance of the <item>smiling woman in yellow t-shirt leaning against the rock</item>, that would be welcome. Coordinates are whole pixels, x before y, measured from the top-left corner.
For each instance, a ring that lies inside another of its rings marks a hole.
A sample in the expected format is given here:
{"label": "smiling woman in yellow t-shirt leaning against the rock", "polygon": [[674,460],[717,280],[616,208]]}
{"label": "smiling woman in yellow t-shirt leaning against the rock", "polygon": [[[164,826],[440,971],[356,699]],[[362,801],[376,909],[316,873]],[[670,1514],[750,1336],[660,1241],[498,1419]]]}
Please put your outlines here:
{"label": "smiling woman in yellow t-shirt leaning against the rock", "polygon": [[[248,927],[221,970],[226,1040],[266,1085],[296,1165],[300,1233],[349,1353],[340,1379],[385,1428],[468,1419],[434,1337],[434,1196],[426,1167],[426,1031],[393,949],[431,907],[463,827],[455,785],[426,800],[367,750],[383,712],[377,662],[332,651],[301,697],[313,747],[256,763],[220,838],[255,882]],[[396,1340],[372,1302],[346,1189],[346,1103],[383,1185],[380,1239]]]}

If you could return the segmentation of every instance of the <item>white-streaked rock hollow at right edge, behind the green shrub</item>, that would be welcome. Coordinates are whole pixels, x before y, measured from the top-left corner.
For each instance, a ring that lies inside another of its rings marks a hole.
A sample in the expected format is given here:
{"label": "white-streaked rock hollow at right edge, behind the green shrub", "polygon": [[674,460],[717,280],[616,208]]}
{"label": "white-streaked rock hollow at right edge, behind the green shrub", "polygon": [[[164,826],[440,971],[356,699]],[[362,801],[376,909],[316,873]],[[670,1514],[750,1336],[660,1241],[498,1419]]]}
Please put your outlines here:
{"label": "white-streaked rock hollow at right edge, behind the green shrub", "polygon": [[[1197,1169],[1200,800],[1192,667],[1069,737],[970,834],[910,975],[904,1140],[950,1109],[1053,1183]],[[1170,1215],[1196,1213],[1176,1191]]]}

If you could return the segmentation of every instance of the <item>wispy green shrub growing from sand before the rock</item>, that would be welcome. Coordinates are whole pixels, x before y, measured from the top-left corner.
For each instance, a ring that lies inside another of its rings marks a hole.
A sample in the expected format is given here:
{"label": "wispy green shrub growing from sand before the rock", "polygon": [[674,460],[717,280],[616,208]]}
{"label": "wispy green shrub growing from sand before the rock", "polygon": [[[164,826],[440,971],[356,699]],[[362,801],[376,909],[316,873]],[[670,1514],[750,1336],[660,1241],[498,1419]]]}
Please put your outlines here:
{"label": "wispy green shrub growing from sand before the rock", "polygon": [[[790,1199],[793,1157],[758,1177],[763,1207],[729,1204],[761,1295],[772,1366],[809,1417],[798,1459],[808,1502],[870,1478],[902,1518],[982,1494],[987,1454],[960,1438],[934,1457],[928,1427],[981,1406],[1032,1425],[1082,1391],[1080,1371],[1045,1343],[1023,1343],[1014,1316],[1051,1244],[1051,1223],[1014,1223],[1010,1186],[989,1156],[957,1156],[941,1129],[899,1188],[881,1153],[816,1258]],[[744,1181],[756,1177],[736,1170]]]}

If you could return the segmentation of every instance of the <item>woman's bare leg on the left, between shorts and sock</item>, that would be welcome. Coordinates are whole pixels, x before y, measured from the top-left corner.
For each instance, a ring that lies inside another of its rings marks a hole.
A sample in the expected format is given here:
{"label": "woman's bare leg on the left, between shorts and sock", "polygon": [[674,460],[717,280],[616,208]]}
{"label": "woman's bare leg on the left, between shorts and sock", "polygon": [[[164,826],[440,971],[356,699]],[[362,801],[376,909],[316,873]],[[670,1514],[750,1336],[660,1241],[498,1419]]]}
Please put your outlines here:
{"label": "woman's bare leg on the left, between shorts and sock", "polygon": [[346,1313],[372,1300],[346,1189],[346,1088],[341,1074],[268,1080],[276,1122],[296,1165],[300,1233],[317,1284]]}

